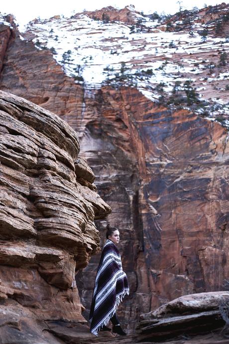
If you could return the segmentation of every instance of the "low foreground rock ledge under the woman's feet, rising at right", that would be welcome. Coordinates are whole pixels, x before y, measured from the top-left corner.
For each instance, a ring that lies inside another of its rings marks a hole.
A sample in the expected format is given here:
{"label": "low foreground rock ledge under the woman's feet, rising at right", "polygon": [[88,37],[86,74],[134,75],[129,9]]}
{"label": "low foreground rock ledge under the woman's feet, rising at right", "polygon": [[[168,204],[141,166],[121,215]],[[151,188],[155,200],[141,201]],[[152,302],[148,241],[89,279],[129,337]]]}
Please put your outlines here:
{"label": "low foreground rock ledge under the woman's feet, rising at right", "polygon": [[228,344],[229,292],[180,297],[142,314],[138,334],[125,337],[99,332],[92,337],[84,324],[49,322],[44,331],[66,344]]}

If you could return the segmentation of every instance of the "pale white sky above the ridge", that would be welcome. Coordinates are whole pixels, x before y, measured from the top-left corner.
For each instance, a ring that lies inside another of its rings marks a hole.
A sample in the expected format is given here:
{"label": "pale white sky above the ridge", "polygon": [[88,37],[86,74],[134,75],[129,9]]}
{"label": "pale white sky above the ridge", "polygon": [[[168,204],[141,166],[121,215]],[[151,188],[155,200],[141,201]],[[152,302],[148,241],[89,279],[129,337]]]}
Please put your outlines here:
{"label": "pale white sky above the ridge", "polygon": [[123,8],[127,5],[134,5],[137,11],[143,11],[145,14],[158,12],[176,13],[179,10],[180,5],[183,9],[192,9],[194,6],[198,8],[207,5],[216,5],[222,3],[220,0],[10,0],[1,1],[0,12],[6,14],[13,14],[19,24],[19,29],[23,30],[25,25],[30,20],[37,18],[41,19],[50,18],[57,14],[63,14],[69,16],[75,13],[86,10],[96,10],[107,6],[114,6],[116,8]]}

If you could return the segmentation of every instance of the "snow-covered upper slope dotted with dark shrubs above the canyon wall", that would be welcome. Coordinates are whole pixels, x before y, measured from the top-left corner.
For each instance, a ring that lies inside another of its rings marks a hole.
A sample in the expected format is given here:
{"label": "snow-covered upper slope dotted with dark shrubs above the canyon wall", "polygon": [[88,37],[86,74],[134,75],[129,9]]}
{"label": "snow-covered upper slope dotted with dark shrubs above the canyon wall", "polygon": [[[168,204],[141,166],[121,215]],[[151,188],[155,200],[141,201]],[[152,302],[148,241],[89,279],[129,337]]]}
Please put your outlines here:
{"label": "snow-covered upper slope dotted with dark shrubs above the canyon wall", "polygon": [[87,89],[137,87],[153,101],[195,109],[228,125],[229,38],[216,37],[216,27],[228,23],[229,5],[210,7],[167,18],[126,7],[135,22],[111,20],[106,8],[103,20],[96,12],[35,19],[24,37],[50,49],[65,73]]}

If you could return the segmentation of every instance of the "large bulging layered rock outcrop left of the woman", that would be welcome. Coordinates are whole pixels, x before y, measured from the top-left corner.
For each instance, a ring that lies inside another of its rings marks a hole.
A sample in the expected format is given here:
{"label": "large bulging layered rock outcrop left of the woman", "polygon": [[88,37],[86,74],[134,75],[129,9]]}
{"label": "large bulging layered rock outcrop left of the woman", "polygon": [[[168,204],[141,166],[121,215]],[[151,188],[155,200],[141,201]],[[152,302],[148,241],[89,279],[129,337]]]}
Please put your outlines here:
{"label": "large bulging layered rock outcrop left of the woman", "polygon": [[111,208],[67,123],[1,91],[0,121],[1,343],[56,343],[38,322],[85,323],[75,274],[98,251],[94,219]]}

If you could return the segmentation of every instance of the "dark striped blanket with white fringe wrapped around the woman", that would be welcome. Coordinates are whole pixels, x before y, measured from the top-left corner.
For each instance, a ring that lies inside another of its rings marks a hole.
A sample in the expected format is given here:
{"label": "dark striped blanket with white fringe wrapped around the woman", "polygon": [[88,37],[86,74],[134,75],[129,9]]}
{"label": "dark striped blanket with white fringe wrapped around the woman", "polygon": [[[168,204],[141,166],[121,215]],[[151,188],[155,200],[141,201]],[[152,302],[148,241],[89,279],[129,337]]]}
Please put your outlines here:
{"label": "dark striped blanket with white fringe wrapped around the woman", "polygon": [[98,331],[108,324],[125,294],[129,294],[129,286],[122,271],[121,257],[117,247],[108,239],[97,270],[89,316],[94,335],[97,336]]}

